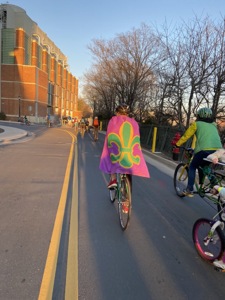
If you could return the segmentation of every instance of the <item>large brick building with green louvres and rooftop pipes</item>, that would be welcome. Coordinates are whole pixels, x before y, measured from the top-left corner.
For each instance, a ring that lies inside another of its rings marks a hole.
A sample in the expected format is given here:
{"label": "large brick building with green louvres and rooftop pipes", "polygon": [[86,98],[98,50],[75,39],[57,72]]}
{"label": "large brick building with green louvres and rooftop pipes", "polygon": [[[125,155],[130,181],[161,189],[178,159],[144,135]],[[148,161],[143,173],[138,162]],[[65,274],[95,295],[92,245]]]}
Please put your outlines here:
{"label": "large brick building with green louvres and rooftop pipes", "polygon": [[19,110],[31,122],[42,122],[46,112],[54,122],[68,115],[81,118],[78,79],[70,72],[67,56],[22,8],[1,4],[0,22],[0,110],[7,120],[18,121]]}

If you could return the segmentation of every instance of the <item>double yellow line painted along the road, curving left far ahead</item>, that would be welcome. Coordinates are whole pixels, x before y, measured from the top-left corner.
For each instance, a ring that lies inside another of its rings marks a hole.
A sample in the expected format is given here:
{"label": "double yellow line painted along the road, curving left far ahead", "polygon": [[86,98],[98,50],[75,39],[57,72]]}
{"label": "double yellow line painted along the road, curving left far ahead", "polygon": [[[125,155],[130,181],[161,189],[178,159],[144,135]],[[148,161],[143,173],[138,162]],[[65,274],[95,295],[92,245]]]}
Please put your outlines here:
{"label": "double yellow line painted along the road, curving left far ahead", "polygon": [[[58,129],[61,130],[61,129]],[[74,157],[74,172],[73,172],[73,192],[72,204],[70,213],[70,234],[68,244],[67,271],[66,271],[66,286],[65,300],[78,299],[78,170],[77,170],[77,138],[74,134],[68,132],[72,138],[70,155],[67,162],[67,168],[62,187],[61,197],[59,200],[58,210],[55,217],[55,224],[52,232],[52,238],[49,245],[48,256],[41,283],[41,289],[38,300],[51,300],[55,280],[55,270],[58,259],[59,242],[62,231],[62,223],[66,205],[67,190],[69,186],[70,169],[73,159],[74,140],[75,157]]]}

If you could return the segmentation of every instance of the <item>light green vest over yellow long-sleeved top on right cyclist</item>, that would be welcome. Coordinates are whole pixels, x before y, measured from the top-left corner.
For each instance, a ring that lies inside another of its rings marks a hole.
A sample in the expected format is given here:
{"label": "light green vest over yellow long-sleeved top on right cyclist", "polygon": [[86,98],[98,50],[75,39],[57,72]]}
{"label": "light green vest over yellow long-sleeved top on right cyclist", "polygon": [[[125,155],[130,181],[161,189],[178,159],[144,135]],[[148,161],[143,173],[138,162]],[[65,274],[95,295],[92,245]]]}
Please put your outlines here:
{"label": "light green vest over yellow long-sleeved top on right cyclist", "polygon": [[217,150],[222,148],[216,124],[211,118],[204,118],[201,121],[193,122],[176,145],[181,146],[193,134],[196,135],[194,154],[201,150]]}

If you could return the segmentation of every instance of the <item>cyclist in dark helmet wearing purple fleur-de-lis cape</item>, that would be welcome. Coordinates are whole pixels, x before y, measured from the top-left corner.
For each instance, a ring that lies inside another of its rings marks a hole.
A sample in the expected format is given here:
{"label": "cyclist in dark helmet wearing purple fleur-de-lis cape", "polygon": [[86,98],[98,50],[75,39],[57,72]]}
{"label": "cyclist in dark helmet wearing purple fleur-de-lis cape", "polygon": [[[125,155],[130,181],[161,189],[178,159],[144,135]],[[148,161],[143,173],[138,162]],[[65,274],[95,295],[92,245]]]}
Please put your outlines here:
{"label": "cyclist in dark helmet wearing purple fleur-de-lis cape", "polygon": [[107,127],[99,169],[111,174],[107,188],[116,187],[116,173],[126,174],[132,191],[132,175],[149,178],[149,171],[140,146],[139,126],[129,118],[130,108],[122,103]]}

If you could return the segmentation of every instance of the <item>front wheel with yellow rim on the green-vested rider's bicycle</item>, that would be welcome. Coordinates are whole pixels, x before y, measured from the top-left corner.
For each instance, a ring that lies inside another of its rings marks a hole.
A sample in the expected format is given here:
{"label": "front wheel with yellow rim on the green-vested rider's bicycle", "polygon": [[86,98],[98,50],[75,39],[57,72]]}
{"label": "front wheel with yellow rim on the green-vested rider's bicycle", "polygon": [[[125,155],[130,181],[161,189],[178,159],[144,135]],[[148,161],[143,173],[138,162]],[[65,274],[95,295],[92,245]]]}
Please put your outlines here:
{"label": "front wheel with yellow rim on the green-vested rider's bicycle", "polygon": [[187,187],[187,179],[188,179],[188,166],[184,168],[186,164],[180,163],[174,172],[173,176],[173,184],[175,188],[175,192],[179,197],[184,197],[183,189]]}

